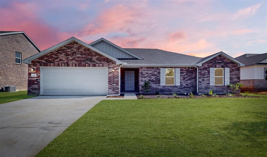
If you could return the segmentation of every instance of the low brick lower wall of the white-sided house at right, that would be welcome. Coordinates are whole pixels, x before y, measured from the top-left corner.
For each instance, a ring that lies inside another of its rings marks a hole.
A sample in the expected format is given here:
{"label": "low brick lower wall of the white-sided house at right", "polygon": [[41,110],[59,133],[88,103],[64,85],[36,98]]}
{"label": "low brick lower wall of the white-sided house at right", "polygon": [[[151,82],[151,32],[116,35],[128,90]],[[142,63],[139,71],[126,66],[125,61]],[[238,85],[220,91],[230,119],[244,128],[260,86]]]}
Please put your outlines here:
{"label": "low brick lower wall of the white-sided house at right", "polygon": [[267,82],[265,79],[247,79],[240,80],[244,85],[242,90],[258,90],[258,89],[267,89]]}

